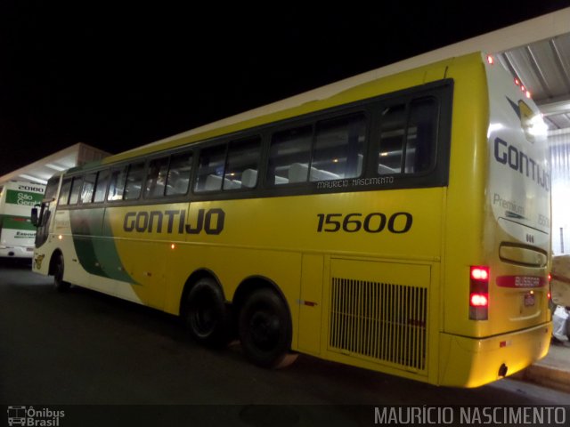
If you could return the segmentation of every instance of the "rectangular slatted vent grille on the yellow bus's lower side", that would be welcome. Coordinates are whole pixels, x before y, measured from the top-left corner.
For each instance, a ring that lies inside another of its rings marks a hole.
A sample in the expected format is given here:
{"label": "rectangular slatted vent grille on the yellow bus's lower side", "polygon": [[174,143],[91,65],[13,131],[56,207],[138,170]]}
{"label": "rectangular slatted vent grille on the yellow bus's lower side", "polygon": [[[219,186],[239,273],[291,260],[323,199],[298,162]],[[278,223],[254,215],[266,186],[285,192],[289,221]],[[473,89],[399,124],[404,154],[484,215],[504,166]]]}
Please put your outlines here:
{"label": "rectangular slatted vent grille on the yellow bus's lower side", "polygon": [[330,348],[426,369],[428,289],[332,278]]}

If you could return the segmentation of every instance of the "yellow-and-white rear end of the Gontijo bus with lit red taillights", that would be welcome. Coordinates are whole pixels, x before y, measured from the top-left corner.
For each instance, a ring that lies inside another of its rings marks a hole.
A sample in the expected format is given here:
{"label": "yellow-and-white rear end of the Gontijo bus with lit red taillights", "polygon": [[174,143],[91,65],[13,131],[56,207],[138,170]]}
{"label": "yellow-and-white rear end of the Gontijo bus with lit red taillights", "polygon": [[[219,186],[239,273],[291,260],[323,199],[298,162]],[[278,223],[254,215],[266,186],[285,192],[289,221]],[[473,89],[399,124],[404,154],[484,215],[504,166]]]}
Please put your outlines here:
{"label": "yellow-and-white rear end of the Gontijo bus with lit red taillights", "polygon": [[482,245],[465,248],[473,256],[461,266],[463,304],[446,306],[455,313],[445,325],[453,334],[443,334],[441,345],[440,374],[448,385],[477,386],[511,375],[546,355],[551,334],[546,125],[518,80],[491,57],[483,63],[487,134],[480,153],[473,153],[485,170],[479,189],[485,210],[474,227]]}

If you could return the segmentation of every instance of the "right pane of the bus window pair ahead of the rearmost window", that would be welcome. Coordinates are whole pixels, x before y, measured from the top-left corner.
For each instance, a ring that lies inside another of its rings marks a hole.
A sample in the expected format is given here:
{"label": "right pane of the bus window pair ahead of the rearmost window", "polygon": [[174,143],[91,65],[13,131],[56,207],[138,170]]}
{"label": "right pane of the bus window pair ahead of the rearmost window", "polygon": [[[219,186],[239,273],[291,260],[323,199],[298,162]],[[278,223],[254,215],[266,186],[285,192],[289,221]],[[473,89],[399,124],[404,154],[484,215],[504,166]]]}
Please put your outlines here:
{"label": "right pane of the bus window pair ahead of the rearmost window", "polygon": [[320,122],[314,141],[310,180],[360,176],[365,137],[366,117],[362,114]]}

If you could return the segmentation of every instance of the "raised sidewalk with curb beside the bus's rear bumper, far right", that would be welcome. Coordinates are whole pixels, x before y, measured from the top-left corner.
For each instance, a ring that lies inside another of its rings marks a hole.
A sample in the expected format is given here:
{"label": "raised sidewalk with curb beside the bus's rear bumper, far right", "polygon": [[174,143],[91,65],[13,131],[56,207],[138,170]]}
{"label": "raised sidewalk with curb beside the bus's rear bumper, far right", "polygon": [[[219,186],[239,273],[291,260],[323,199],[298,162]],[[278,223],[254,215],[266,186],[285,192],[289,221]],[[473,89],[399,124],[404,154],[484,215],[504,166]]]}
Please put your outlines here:
{"label": "raised sidewalk with curb beside the bus's rear bumper, far right", "polygon": [[551,342],[544,359],[513,377],[570,393],[570,342]]}

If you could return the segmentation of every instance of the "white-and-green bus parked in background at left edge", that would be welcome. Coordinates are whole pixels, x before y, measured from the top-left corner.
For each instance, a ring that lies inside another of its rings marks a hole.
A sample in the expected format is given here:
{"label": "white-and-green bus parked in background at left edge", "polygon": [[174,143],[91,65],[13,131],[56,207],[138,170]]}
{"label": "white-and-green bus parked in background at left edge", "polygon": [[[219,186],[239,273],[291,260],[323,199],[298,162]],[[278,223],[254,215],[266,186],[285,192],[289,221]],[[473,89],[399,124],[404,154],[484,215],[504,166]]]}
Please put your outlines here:
{"label": "white-and-green bus parked in background at left edge", "polygon": [[21,181],[5,182],[0,189],[0,258],[32,258],[36,228],[29,215],[44,191],[45,185]]}

